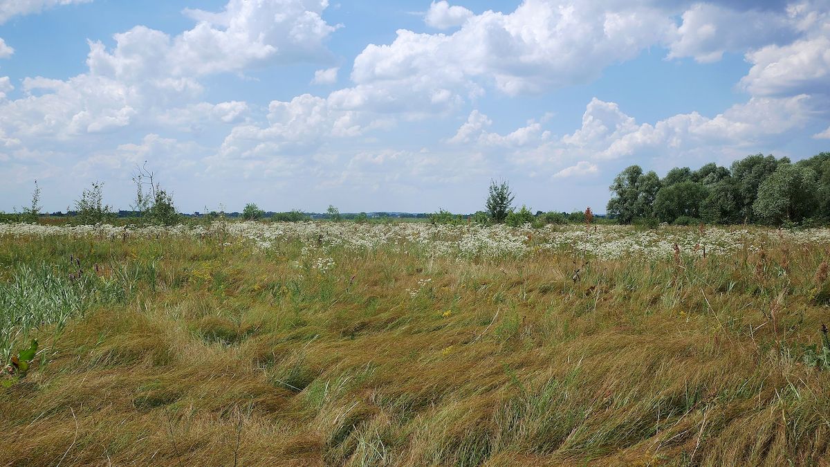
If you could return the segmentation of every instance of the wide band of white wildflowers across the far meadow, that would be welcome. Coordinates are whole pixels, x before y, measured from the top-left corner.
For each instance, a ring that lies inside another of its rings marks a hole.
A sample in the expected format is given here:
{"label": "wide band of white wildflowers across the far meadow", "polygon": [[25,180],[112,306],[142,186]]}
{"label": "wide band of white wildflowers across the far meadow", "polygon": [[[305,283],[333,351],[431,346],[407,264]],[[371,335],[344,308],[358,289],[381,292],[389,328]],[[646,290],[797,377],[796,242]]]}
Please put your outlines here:
{"label": "wide band of white wildflowers across the far meadow", "polygon": [[[675,245],[682,256],[703,256],[731,254],[741,248],[758,251],[763,244],[783,242],[830,244],[830,229],[776,230],[759,227],[688,229],[663,226],[661,229],[640,231],[621,225],[601,225],[597,229],[586,230],[575,225],[548,225],[543,229],[530,229],[503,224],[379,225],[333,222],[217,221],[195,227],[0,224],[0,238],[53,236],[100,239],[173,236],[220,238],[224,243],[248,243],[261,250],[282,243],[300,242],[303,245],[303,256],[312,256],[314,252],[329,252],[331,248],[355,252],[388,248],[405,255],[454,257],[462,261],[471,258],[522,258],[540,252],[570,252],[603,259],[648,260],[671,258],[676,253]],[[323,263],[320,263],[320,269],[323,269]]]}

